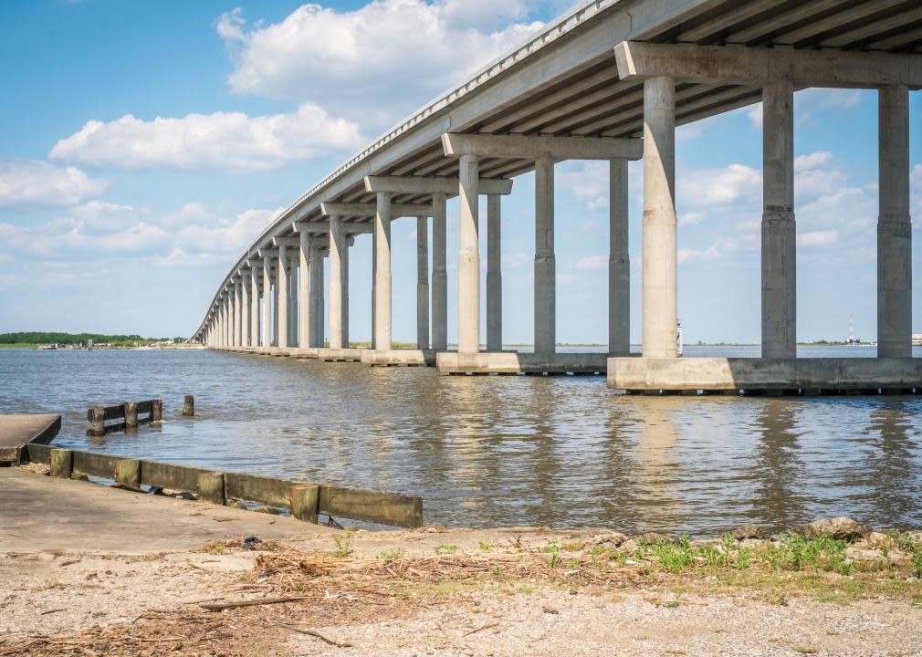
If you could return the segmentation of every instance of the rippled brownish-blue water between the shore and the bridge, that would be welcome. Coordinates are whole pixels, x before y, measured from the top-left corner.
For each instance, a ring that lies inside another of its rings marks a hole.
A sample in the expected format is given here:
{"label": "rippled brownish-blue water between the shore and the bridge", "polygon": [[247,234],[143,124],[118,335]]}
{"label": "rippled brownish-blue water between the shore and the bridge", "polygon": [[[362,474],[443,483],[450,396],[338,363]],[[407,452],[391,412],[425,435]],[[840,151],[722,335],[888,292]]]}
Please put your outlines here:
{"label": "rippled brownish-blue water between the shore and the bridge", "polygon": [[[194,419],[177,417],[186,393]],[[166,406],[162,428],[86,437],[89,405],[154,397]],[[918,527],[920,411],[922,397],[635,397],[611,392],[603,377],[440,377],[210,351],[0,350],[0,413],[61,413],[55,444],[420,495],[426,522],[449,526],[711,535],[845,514]]]}

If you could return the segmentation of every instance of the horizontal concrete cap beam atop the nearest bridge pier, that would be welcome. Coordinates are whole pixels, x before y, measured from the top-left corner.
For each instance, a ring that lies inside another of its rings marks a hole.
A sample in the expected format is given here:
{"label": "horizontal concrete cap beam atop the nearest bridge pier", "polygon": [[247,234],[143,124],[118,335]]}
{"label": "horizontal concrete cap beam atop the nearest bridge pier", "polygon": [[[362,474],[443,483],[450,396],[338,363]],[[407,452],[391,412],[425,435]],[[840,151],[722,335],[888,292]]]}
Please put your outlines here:
{"label": "horizontal concrete cap beam atop the nearest bridge pier", "polygon": [[677,82],[799,87],[922,88],[922,55],[851,53],[621,41],[615,47],[622,80],[670,77]]}

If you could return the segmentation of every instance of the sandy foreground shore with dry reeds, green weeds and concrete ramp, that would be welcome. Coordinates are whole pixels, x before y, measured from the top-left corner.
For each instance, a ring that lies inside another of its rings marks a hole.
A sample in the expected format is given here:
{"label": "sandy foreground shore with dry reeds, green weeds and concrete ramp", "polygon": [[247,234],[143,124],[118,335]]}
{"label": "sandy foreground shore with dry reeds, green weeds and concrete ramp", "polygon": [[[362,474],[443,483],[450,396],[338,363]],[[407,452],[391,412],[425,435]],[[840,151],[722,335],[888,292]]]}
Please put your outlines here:
{"label": "sandy foreground shore with dry reeds, green weeds and concrete ramp", "polygon": [[[60,509],[32,531],[13,502],[0,501],[0,655],[922,651],[922,582],[908,534],[868,534],[845,548],[824,538],[667,543],[593,529],[346,533],[15,478],[13,486],[0,473],[5,492],[64,489],[80,514],[87,496],[102,496],[134,529],[100,531],[94,545],[80,519],[55,524]],[[133,524],[136,515],[152,518],[148,529]],[[109,524],[100,514],[96,522]],[[249,535],[263,540],[254,550],[242,545]],[[807,560],[773,566],[781,554]]]}

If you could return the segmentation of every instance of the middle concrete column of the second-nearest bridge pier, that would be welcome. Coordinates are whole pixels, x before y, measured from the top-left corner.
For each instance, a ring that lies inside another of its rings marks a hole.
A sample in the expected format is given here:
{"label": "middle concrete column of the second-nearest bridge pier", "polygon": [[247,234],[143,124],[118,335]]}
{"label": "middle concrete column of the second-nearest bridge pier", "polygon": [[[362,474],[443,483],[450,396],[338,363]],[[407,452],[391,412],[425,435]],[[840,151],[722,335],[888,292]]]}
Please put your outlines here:
{"label": "middle concrete column of the second-nearest bridge pier", "polygon": [[557,262],[554,256],[554,160],[535,163],[535,353],[557,345]]}

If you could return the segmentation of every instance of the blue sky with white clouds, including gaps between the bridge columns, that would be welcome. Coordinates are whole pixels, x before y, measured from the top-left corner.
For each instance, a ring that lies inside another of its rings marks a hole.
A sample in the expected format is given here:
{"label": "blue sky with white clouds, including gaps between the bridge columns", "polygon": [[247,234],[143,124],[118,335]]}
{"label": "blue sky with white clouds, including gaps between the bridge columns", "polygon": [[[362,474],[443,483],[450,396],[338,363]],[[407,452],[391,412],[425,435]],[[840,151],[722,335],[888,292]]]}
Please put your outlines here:
{"label": "blue sky with white clouds, including gaps between the bridge columns", "polygon": [[[0,333],[193,334],[231,265],[282,208],[570,4],[0,3]],[[922,92],[910,111],[913,329],[922,333]],[[795,112],[798,339],[843,339],[854,321],[873,340],[877,95],[807,89]],[[760,119],[751,106],[677,133],[687,342],[759,341]],[[630,174],[636,343],[642,163]],[[608,168],[561,163],[556,181],[558,341],[604,343]],[[456,217],[450,202],[449,340]],[[503,336],[529,343],[532,175],[516,179],[502,217]],[[393,225],[400,341],[416,335],[415,229],[415,220]],[[367,340],[371,236],[356,239],[349,268],[350,337]]]}

